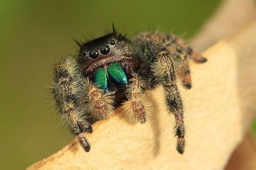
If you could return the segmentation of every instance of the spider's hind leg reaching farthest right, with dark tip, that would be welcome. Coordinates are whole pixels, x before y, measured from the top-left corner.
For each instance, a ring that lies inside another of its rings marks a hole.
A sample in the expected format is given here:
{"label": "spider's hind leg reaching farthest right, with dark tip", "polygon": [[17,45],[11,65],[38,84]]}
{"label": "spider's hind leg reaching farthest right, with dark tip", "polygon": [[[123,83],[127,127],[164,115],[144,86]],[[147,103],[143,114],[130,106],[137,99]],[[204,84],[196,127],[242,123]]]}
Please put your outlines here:
{"label": "spider's hind leg reaching farthest right, with dark tip", "polygon": [[200,53],[196,52],[190,46],[186,45],[186,43],[181,38],[176,36],[175,34],[167,34],[166,38],[174,46],[176,46],[180,50],[182,50],[182,51],[184,50],[186,53],[188,53],[189,58],[194,60],[195,62],[201,62],[202,63],[202,62],[207,61],[207,59],[202,57],[202,55],[200,55]]}

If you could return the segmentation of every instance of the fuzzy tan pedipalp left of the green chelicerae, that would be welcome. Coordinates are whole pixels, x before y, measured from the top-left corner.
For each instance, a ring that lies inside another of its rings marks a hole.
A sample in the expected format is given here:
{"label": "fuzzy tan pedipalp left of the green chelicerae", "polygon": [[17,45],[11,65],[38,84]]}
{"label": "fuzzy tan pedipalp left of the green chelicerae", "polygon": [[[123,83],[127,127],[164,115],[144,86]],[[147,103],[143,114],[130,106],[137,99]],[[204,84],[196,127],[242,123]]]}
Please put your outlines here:
{"label": "fuzzy tan pedipalp left of the green chelicerae", "polygon": [[110,92],[104,92],[88,78],[84,79],[85,107],[93,117],[104,119],[113,113],[114,97]]}

